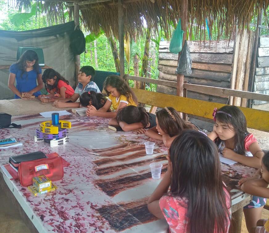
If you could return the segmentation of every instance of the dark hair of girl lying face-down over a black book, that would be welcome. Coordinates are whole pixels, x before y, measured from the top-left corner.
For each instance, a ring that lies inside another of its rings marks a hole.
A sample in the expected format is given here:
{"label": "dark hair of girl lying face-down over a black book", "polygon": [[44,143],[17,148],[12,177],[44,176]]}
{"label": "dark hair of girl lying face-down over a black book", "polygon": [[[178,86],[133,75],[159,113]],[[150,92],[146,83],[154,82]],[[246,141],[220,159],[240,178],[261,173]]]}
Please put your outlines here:
{"label": "dark hair of girl lying face-down over a black book", "polygon": [[117,122],[124,121],[127,124],[141,122],[144,128],[149,123],[149,114],[143,107],[136,107],[133,105],[121,108],[117,113]]}

